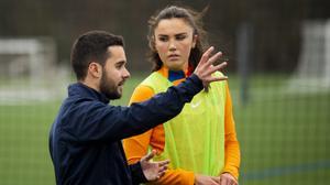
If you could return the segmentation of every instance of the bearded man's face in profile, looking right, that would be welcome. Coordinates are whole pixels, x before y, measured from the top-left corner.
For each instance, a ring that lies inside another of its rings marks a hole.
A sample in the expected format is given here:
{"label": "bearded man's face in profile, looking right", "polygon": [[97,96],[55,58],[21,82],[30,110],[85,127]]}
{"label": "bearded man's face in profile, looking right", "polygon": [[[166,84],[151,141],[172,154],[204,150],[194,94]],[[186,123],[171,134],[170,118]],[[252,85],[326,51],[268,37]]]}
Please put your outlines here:
{"label": "bearded man's face in profile, looking right", "polygon": [[109,99],[122,96],[123,84],[130,77],[125,67],[127,56],[122,46],[110,46],[110,57],[106,61],[100,81],[100,91]]}

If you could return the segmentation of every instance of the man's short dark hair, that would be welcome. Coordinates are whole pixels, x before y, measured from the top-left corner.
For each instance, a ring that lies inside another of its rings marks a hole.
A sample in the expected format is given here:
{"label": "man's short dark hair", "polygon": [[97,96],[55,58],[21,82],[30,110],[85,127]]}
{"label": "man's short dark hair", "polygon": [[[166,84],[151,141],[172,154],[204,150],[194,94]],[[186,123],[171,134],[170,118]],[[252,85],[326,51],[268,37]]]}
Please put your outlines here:
{"label": "man's short dark hair", "polygon": [[123,46],[122,36],[105,31],[90,31],[80,35],[72,48],[72,66],[77,80],[85,79],[91,62],[105,66],[107,58],[111,55],[108,47],[112,45]]}

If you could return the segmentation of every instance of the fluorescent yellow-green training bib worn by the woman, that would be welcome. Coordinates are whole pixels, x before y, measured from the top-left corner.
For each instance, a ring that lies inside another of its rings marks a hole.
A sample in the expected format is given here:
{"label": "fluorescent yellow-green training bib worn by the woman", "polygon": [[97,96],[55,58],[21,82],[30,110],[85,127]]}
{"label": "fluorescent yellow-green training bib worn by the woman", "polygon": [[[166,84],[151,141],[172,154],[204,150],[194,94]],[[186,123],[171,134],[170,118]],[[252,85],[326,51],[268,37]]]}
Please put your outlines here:
{"label": "fluorescent yellow-green training bib worn by the woman", "polygon": [[[221,73],[215,75],[222,76]],[[154,72],[142,85],[158,94],[173,83]],[[163,124],[165,148],[156,161],[169,159],[170,168],[205,175],[221,173],[224,165],[224,85],[223,81],[212,83],[208,92],[197,94],[178,116]]]}

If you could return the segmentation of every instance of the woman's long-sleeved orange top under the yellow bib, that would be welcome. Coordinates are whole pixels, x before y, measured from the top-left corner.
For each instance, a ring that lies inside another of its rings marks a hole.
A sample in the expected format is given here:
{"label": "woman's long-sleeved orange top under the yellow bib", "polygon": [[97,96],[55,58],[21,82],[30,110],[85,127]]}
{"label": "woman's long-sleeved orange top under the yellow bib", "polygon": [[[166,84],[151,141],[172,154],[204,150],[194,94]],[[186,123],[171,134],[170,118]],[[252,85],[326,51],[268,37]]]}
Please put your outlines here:
{"label": "woman's long-sleeved orange top under the yellow bib", "polygon": [[[188,72],[182,73],[182,76],[168,75],[172,74],[166,67],[162,67],[157,73],[167,77],[174,85],[178,85],[188,76]],[[232,113],[232,101],[229,92],[228,84],[226,86],[226,108],[224,108],[224,167],[221,173],[230,173],[237,179],[239,177],[240,167],[240,145],[237,139],[235,126]],[[150,99],[154,96],[154,91],[146,86],[140,85],[135,88],[130,104],[140,102]],[[155,149],[158,153],[164,151],[165,145],[165,131],[163,124],[129,139],[123,140],[123,148],[129,161],[129,164],[138,162],[143,157],[147,151],[148,146]],[[220,175],[219,174],[219,175]],[[191,171],[186,171],[184,168],[169,168],[166,171],[165,175],[157,179],[155,184],[162,185],[194,185],[195,173]]]}

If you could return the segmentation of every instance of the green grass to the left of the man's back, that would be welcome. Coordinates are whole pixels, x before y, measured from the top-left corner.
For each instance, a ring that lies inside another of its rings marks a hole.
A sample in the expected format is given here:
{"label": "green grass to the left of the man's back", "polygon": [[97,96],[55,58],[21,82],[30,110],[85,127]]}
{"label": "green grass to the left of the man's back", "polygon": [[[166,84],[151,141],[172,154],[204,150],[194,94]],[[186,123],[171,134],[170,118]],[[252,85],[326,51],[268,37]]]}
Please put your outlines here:
{"label": "green grass to the left of the man's back", "polygon": [[0,184],[55,184],[47,139],[58,105],[0,107]]}

